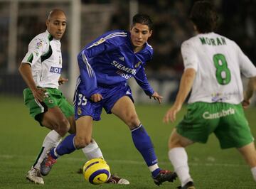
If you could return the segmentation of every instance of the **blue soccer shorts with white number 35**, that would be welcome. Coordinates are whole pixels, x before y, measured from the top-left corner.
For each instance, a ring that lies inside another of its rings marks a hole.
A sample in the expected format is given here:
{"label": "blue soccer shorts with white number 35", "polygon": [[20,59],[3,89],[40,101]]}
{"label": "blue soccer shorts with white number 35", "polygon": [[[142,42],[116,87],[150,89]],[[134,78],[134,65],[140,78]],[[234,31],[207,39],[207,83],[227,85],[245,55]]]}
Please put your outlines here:
{"label": "blue soccer shorts with white number 35", "polygon": [[92,102],[90,99],[82,95],[78,90],[74,97],[74,107],[75,107],[75,120],[79,117],[90,116],[93,120],[99,121],[100,114],[102,113],[102,107],[105,109],[107,114],[111,114],[111,109],[118,99],[124,96],[128,96],[132,99],[132,91],[130,87],[125,85],[115,85],[114,87],[97,87],[100,90],[100,94],[103,99],[100,102]]}

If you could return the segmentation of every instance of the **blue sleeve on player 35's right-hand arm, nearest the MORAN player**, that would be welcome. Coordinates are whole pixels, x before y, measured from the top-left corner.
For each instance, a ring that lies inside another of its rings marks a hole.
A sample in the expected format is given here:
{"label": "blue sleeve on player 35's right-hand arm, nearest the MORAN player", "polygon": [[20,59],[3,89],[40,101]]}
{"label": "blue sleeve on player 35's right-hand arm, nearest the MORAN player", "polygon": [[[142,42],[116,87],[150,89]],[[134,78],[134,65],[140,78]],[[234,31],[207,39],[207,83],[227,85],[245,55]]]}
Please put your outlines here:
{"label": "blue sleeve on player 35's right-hand arm, nearest the MORAN player", "polygon": [[146,78],[146,73],[145,73],[145,69],[144,67],[139,69],[139,72],[137,72],[136,75],[134,75],[134,79],[136,80],[136,82],[138,83],[138,85],[140,87],[142,87],[142,90],[144,90],[144,92],[146,93],[146,95],[153,95],[154,90],[153,88],[150,86],[149,81]]}

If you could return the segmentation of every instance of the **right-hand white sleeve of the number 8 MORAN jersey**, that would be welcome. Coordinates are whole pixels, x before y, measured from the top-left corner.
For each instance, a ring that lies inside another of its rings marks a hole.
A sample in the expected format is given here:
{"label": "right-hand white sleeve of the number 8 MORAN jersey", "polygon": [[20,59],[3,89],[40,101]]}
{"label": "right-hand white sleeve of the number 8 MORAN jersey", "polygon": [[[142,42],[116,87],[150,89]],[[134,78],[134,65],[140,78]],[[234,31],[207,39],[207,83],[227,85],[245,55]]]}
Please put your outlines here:
{"label": "right-hand white sleeve of the number 8 MORAN jersey", "polygon": [[242,50],[238,45],[237,47],[238,47],[239,66],[240,66],[242,75],[245,75],[245,77],[255,77],[256,76],[255,65],[253,65],[250,59],[244,53],[242,53]]}

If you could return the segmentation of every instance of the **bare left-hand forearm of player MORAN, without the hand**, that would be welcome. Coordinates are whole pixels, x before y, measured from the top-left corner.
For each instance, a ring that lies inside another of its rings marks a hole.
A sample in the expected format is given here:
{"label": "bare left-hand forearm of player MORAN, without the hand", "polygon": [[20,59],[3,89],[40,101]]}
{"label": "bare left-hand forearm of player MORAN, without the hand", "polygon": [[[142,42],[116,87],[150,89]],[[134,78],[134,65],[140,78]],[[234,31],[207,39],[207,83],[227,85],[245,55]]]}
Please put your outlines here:
{"label": "bare left-hand forearm of player MORAN, without the hand", "polygon": [[183,102],[185,101],[186,97],[188,97],[188,93],[191,91],[195,77],[196,70],[193,68],[188,68],[185,70],[185,72],[183,72],[174,106],[182,107]]}

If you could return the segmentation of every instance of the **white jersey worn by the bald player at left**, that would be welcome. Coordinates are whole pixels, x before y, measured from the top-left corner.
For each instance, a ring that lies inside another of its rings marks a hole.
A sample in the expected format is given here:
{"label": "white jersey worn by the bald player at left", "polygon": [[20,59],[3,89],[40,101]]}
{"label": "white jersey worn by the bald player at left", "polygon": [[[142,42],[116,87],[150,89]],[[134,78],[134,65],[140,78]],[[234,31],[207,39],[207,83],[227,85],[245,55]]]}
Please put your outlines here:
{"label": "white jersey worn by the bald player at left", "polygon": [[38,87],[58,88],[62,68],[60,41],[48,31],[40,33],[28,45],[22,63],[31,65],[33,80]]}

